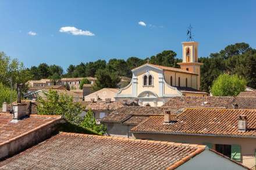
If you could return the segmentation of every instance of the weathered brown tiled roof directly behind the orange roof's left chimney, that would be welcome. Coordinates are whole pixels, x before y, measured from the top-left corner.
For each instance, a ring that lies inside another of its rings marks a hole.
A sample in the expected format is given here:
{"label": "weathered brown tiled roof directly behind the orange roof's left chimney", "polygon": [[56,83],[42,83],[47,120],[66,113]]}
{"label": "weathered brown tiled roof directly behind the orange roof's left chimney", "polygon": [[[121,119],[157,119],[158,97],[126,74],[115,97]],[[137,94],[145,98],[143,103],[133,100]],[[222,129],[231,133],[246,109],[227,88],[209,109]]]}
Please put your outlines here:
{"label": "weathered brown tiled roof directly behind the orange roof's left chimney", "polygon": [[[145,106],[126,106],[118,108],[111,112],[111,114],[107,115],[102,119],[104,122],[129,122],[128,119],[132,119],[130,121],[135,121],[134,119],[139,119],[138,117],[132,118],[135,115],[147,116],[150,115],[163,115],[165,111],[172,111],[172,113],[176,113],[179,108],[175,107],[145,107]],[[141,118],[140,119],[144,119]]]}

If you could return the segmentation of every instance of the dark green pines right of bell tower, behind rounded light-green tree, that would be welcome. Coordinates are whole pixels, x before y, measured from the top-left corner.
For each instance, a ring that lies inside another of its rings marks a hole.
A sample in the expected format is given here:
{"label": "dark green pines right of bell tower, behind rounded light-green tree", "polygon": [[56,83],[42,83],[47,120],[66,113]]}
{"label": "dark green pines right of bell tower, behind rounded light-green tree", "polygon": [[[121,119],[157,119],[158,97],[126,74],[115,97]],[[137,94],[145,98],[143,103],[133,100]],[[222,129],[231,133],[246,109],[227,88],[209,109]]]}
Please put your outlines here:
{"label": "dark green pines right of bell tower, behind rounded light-green tree", "polygon": [[256,50],[242,42],[226,46],[219,53],[199,59],[201,89],[209,91],[215,78],[223,73],[237,74],[246,78],[247,85],[256,88]]}

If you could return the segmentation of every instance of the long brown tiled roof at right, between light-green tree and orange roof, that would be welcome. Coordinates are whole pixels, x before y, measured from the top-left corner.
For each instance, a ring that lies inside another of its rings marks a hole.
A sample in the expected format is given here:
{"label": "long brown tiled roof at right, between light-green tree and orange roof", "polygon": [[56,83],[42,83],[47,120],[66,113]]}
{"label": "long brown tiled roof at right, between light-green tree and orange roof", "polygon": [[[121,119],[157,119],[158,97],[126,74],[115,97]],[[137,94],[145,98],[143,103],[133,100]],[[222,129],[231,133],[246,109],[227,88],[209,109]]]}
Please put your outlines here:
{"label": "long brown tiled roof at right, between light-green tree and orange roof", "polygon": [[170,97],[163,107],[217,107],[233,108],[238,104],[241,109],[256,109],[256,97],[216,97],[182,96]]}

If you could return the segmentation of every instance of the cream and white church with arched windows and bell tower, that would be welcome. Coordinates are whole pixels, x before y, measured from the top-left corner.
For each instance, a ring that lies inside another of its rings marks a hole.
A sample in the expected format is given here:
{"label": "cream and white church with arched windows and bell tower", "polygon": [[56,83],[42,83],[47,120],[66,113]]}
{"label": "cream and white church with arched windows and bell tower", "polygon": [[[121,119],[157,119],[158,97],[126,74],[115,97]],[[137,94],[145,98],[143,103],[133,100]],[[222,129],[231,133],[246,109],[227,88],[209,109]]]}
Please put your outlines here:
{"label": "cream and white church with arched windows and bell tower", "polygon": [[183,42],[180,68],[144,64],[134,68],[131,82],[116,94],[117,101],[137,100],[140,106],[162,106],[169,97],[207,96],[200,92],[198,42]]}

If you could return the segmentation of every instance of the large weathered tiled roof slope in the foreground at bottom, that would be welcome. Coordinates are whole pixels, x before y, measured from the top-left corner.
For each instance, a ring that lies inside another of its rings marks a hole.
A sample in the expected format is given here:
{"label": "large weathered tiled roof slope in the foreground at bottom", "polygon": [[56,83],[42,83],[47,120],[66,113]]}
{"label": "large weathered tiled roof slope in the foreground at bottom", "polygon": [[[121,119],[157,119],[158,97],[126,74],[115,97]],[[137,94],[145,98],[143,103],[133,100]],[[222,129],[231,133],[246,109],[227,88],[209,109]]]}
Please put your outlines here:
{"label": "large weathered tiled roof slope in the foreground at bottom", "polygon": [[174,169],[205,146],[59,133],[11,158],[0,169]]}

